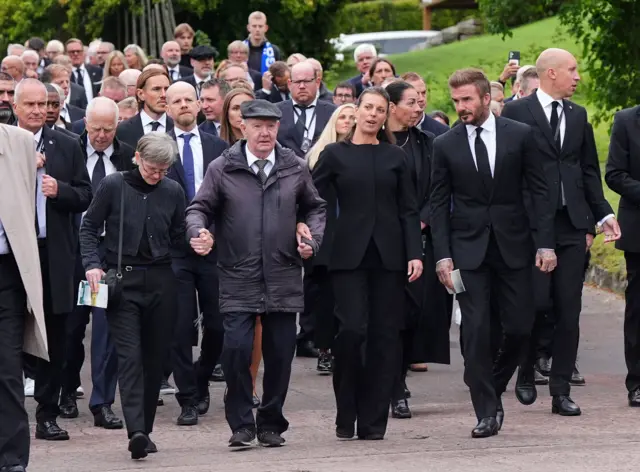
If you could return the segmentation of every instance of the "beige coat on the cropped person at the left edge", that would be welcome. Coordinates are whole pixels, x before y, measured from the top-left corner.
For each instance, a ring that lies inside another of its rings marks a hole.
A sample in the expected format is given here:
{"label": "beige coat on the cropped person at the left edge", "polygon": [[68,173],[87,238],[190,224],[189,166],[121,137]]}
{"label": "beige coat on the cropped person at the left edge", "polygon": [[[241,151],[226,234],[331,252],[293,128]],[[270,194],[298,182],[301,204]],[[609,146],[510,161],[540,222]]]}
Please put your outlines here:
{"label": "beige coat on the cropped person at the left edge", "polygon": [[27,292],[24,351],[49,360],[35,231],[35,155],[33,134],[0,124],[0,220]]}

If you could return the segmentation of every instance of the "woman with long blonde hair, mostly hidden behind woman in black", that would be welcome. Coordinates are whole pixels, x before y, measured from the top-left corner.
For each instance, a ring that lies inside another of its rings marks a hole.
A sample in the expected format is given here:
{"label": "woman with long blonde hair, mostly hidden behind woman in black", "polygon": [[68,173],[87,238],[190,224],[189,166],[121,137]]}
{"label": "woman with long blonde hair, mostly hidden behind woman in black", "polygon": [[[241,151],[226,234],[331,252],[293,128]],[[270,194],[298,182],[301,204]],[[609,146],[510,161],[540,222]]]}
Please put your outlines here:
{"label": "woman with long blonde hair, mostly hidden behind woman in black", "polygon": [[[333,112],[320,138],[307,154],[307,162],[311,170],[318,163],[320,153],[326,146],[347,137],[353,128],[355,114],[356,106],[351,103],[342,105]],[[314,344],[320,353],[317,371],[323,375],[331,374],[333,371],[331,345],[337,331],[337,322],[333,316],[333,289],[328,270],[330,245],[337,216],[337,199],[335,192],[332,191],[328,192],[325,198],[327,199],[327,223],[322,245],[313,259],[305,261],[304,270],[304,306],[305,310],[309,310],[305,315],[316,320]]]}

